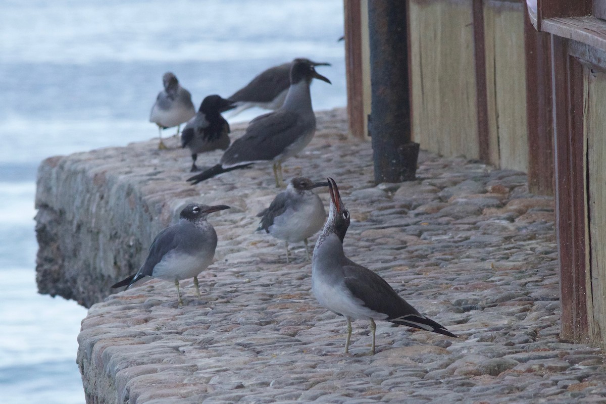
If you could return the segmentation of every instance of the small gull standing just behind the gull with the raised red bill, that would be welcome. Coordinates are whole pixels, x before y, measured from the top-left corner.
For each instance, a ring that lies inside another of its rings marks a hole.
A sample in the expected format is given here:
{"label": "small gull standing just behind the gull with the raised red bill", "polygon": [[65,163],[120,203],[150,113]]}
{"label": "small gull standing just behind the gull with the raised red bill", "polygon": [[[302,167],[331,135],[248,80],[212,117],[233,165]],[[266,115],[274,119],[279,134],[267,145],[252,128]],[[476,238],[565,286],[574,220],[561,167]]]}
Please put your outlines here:
{"label": "small gull standing just behind the gull with the raised red bill", "polygon": [[279,193],[268,208],[257,214],[261,224],[257,230],[265,230],[276,239],[284,240],[286,247],[286,262],[288,259],[288,243],[305,242],[307,259],[309,247],[307,239],[318,233],[324,225],[326,211],[324,204],[313,188],[327,187],[328,182],[311,182],[305,177],[295,177],[285,191]]}

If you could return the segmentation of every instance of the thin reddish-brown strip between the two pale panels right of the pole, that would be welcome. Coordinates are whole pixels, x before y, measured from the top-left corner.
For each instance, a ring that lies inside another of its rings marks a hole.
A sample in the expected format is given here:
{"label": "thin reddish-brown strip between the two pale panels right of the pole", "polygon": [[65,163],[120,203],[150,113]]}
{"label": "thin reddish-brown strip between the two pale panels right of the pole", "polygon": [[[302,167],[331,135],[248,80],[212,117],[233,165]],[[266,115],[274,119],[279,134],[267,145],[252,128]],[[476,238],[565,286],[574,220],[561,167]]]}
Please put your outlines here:
{"label": "thin reddish-brown strip between the two pale panels right of the pole", "polygon": [[[488,96],[486,87],[486,48],[484,42],[484,1],[473,0],[473,45],[476,68],[476,113],[478,116],[479,157],[490,162],[490,137],[488,136]],[[499,165],[500,162],[492,162]]]}

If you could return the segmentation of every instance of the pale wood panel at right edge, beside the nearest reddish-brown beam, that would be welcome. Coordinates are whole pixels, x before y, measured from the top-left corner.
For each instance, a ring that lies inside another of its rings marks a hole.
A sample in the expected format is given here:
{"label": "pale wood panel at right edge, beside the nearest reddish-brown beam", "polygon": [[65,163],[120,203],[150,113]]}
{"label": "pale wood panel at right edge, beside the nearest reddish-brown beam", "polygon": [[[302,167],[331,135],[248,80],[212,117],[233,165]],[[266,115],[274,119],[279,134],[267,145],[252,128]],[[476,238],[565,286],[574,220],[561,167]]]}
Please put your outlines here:
{"label": "pale wood panel at right edge, beside the nearest reddish-brown beam", "polygon": [[591,269],[587,274],[589,331],[606,346],[606,73],[584,68],[587,208]]}

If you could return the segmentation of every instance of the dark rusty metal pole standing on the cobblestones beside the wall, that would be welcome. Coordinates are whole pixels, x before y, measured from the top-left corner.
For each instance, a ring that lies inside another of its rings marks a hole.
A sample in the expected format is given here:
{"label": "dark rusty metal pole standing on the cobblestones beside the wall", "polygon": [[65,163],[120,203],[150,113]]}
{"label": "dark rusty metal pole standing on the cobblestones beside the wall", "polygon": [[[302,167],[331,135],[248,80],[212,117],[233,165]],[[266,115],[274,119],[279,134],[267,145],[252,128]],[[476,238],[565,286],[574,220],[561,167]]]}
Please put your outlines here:
{"label": "dark rusty metal pole standing on the cobblestones beside the wall", "polygon": [[406,1],[368,2],[375,182],[415,179],[419,144],[411,141]]}

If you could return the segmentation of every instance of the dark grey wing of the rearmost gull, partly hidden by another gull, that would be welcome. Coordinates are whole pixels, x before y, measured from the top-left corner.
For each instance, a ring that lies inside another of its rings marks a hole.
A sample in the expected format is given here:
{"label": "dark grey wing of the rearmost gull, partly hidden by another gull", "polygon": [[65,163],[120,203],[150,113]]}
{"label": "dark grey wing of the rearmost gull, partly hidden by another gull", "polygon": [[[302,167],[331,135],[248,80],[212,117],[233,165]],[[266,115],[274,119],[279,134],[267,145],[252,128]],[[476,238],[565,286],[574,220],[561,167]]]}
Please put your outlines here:
{"label": "dark grey wing of the rearmost gull, partly hidden by another gull", "polygon": [[278,94],[290,87],[290,66],[291,63],[285,63],[262,71],[228,99],[234,102],[273,101]]}

